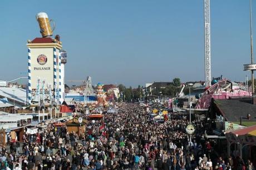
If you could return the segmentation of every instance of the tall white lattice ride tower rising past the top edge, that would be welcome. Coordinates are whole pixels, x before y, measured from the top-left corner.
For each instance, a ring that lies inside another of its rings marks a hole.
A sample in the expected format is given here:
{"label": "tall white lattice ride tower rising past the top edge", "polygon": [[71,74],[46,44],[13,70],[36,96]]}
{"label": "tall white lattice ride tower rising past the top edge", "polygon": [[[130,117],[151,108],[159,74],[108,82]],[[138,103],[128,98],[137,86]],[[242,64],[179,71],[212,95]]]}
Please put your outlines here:
{"label": "tall white lattice ride tower rising past the top edge", "polygon": [[204,0],[205,87],[211,84],[210,0]]}

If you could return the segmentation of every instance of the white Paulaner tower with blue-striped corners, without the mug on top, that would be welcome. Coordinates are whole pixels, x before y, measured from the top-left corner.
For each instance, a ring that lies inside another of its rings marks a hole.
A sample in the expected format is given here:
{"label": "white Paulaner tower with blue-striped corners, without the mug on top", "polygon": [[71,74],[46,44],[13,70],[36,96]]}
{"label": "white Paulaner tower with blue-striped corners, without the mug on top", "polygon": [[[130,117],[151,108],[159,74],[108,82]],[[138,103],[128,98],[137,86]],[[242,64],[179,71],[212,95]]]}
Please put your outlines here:
{"label": "white Paulaner tower with blue-striped corners, without the mug on top", "polygon": [[[27,43],[27,47],[28,103],[31,104],[35,98],[41,98],[40,93],[50,93],[50,89],[55,101],[63,102],[65,98],[64,70],[66,58],[62,56],[66,52],[61,51],[62,43],[50,37],[35,38]],[[42,88],[45,89],[43,92]]]}

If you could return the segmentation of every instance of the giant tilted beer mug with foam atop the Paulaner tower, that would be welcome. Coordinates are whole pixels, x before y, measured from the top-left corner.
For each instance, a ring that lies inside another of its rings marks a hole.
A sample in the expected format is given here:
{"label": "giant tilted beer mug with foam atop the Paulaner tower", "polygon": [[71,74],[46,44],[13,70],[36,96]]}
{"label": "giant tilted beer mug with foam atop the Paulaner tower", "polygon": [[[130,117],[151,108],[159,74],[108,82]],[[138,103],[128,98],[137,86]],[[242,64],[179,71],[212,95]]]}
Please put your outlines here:
{"label": "giant tilted beer mug with foam atop the Paulaner tower", "polygon": [[[48,18],[47,13],[40,12],[36,15],[36,20],[39,23],[40,33],[42,37],[50,37],[55,29],[55,22]],[[53,29],[51,28],[50,22],[53,23]]]}

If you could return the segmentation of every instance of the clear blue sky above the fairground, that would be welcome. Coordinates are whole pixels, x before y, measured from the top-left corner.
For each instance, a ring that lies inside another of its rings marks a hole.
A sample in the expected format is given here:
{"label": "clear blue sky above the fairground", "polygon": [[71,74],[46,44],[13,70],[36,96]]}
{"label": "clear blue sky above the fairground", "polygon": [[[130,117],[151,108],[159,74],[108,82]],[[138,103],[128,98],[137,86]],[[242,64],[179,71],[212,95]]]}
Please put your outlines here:
{"label": "clear blue sky above the fairground", "polygon": [[[67,50],[68,84],[86,76],[93,84],[134,87],[175,77],[204,80],[203,5],[203,0],[3,0],[0,79],[27,72],[26,42],[41,37],[35,16],[46,12]],[[256,1],[253,22],[256,36]],[[249,0],[211,1],[211,49],[212,76],[243,81],[250,75],[243,71],[250,62]]]}

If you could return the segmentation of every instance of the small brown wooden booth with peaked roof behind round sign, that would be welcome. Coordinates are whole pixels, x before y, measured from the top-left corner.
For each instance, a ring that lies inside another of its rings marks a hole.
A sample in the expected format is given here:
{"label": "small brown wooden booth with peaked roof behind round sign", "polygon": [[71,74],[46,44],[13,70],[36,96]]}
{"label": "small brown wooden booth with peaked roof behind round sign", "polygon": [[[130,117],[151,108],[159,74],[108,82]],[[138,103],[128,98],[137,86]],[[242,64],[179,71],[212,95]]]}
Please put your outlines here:
{"label": "small brown wooden booth with peaked roof behind round sign", "polygon": [[66,122],[67,132],[68,133],[75,132],[75,133],[78,133],[78,136],[80,136],[80,134],[85,133],[86,124],[87,124],[86,119],[83,119],[81,117],[80,118],[74,117],[73,119]]}

